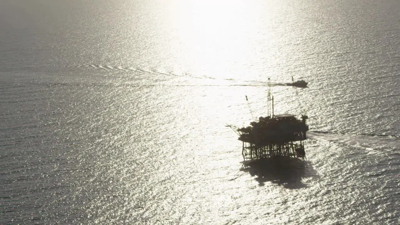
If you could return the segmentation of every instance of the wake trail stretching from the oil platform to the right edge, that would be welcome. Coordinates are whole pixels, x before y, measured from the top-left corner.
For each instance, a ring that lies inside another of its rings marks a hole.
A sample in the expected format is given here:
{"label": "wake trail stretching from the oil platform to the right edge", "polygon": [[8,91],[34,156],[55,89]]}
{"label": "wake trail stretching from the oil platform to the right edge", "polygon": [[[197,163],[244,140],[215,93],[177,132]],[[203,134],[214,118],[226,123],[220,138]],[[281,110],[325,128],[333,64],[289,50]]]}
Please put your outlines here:
{"label": "wake trail stretching from the oil platform to the right edge", "polygon": [[324,131],[310,131],[308,139],[340,143],[366,150],[400,150],[400,135],[386,134],[353,134],[353,133],[329,133]]}

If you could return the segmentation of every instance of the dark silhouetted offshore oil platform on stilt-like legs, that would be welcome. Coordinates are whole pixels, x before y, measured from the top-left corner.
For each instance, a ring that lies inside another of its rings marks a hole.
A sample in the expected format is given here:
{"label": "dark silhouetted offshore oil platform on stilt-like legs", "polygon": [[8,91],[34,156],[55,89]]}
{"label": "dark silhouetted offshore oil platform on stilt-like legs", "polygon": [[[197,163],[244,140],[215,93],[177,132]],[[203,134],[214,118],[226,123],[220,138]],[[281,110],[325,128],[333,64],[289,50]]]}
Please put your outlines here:
{"label": "dark silhouetted offshore oil platform on stilt-like legs", "polygon": [[243,143],[243,159],[256,160],[276,156],[303,158],[306,155],[303,141],[306,140],[308,131],[308,117],[302,115],[300,120],[294,115],[274,115],[274,96],[270,89],[267,102],[267,117],[259,117],[258,121],[251,122],[248,127],[227,126],[239,135],[238,140]]}

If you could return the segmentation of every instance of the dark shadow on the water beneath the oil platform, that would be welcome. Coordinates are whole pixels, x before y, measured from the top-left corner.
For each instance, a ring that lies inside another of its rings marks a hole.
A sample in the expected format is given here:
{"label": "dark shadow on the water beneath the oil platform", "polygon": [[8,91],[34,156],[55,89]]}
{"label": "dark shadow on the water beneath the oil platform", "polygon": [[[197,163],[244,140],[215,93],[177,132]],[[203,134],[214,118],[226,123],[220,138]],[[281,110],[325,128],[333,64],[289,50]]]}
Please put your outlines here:
{"label": "dark shadow on the water beneath the oil platform", "polygon": [[288,189],[298,189],[307,187],[302,183],[303,178],[317,176],[311,162],[299,158],[273,157],[242,163],[240,171],[256,177],[260,186],[272,182]]}

